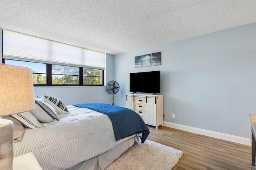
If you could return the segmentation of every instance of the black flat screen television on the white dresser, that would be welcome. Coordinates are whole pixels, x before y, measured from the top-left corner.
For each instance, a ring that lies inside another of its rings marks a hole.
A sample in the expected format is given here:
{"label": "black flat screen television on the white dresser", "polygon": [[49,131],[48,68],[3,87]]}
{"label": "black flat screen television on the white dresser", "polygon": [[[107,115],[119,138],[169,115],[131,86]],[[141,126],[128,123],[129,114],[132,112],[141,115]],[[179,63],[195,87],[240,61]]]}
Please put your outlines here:
{"label": "black flat screen television on the white dresser", "polygon": [[160,71],[130,73],[130,92],[160,93]]}

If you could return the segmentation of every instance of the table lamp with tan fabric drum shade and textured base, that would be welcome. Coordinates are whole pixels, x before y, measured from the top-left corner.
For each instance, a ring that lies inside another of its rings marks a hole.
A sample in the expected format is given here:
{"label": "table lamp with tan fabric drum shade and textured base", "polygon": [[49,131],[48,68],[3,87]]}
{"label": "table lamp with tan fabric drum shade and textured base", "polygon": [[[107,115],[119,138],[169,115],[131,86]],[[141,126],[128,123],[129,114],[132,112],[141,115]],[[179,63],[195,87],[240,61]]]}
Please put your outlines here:
{"label": "table lamp with tan fabric drum shade and textured base", "polygon": [[[0,64],[0,116],[35,108],[31,68]],[[0,118],[0,169],[12,170],[13,122]]]}

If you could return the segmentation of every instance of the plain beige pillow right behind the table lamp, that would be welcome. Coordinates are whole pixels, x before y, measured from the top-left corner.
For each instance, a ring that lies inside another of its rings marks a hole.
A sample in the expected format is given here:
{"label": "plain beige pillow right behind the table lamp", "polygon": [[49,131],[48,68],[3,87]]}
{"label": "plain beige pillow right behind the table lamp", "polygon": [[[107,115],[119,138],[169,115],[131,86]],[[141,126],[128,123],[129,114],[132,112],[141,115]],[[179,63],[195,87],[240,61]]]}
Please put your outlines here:
{"label": "plain beige pillow right behind the table lamp", "polygon": [[3,116],[2,119],[8,119],[13,122],[14,124],[14,133],[13,133],[13,139],[14,143],[20,142],[22,140],[22,137],[24,135],[25,129],[21,123],[21,121],[15,119],[12,116]]}

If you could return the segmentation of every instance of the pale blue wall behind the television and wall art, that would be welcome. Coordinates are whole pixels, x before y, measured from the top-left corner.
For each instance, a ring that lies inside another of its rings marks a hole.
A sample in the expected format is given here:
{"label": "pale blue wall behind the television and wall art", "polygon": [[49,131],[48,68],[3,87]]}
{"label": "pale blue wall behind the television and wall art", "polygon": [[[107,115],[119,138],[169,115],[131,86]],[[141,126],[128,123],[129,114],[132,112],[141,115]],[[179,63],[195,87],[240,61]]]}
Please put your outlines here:
{"label": "pale blue wall behind the television and wall art", "polygon": [[[161,52],[160,66],[134,68],[134,57]],[[114,56],[125,107],[129,74],[161,70],[164,121],[251,138],[256,113],[256,23]],[[176,119],[172,119],[172,113]]]}

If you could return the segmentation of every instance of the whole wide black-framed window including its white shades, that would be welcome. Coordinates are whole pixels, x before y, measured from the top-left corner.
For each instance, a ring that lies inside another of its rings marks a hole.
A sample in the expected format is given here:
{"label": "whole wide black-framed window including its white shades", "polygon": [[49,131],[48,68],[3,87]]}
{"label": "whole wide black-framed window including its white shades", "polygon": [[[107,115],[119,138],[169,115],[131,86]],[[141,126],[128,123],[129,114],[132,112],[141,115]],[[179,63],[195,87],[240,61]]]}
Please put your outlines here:
{"label": "whole wide black-framed window including its white shades", "polygon": [[34,86],[103,86],[106,54],[3,30],[3,63],[32,68]]}

